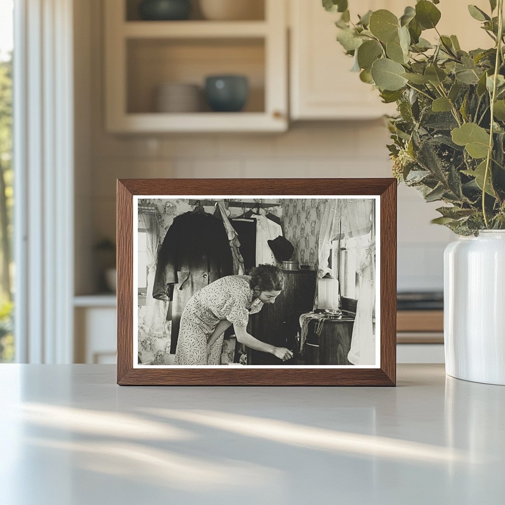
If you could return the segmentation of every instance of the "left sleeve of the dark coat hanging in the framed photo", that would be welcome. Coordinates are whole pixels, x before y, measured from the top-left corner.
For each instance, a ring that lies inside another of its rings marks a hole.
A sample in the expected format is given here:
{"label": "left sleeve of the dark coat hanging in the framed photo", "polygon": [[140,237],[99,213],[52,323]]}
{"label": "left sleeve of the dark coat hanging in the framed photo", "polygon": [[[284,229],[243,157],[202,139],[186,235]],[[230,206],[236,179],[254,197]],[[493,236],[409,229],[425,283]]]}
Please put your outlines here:
{"label": "left sleeve of the dark coat hanging in the framed photo", "polygon": [[153,284],[153,298],[158,300],[171,300],[174,284],[178,281],[178,228],[176,218],[168,229],[158,254],[158,263]]}

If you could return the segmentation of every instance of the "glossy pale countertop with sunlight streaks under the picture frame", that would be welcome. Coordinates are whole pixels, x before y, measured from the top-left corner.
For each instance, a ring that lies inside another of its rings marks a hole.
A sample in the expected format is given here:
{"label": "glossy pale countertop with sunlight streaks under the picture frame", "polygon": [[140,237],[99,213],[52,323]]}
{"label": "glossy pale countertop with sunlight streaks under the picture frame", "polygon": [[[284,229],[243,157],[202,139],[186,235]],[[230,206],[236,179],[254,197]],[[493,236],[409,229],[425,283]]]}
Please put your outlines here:
{"label": "glossy pale countertop with sunlight streaks under the picture frame", "polygon": [[505,387],[399,365],[396,388],[119,387],[0,365],[5,505],[498,504]]}

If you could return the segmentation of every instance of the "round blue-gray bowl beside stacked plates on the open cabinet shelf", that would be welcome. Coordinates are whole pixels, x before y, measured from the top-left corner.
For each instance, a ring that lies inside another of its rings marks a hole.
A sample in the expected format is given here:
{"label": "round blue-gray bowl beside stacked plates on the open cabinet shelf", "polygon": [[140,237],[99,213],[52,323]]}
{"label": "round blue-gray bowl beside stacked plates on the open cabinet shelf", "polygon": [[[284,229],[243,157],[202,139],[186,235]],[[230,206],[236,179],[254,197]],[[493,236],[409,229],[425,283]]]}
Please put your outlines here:
{"label": "round blue-gray bowl beside stacked plates on the open cabinet shelf", "polygon": [[247,77],[212,75],[205,81],[205,94],[214,112],[239,112],[249,96]]}

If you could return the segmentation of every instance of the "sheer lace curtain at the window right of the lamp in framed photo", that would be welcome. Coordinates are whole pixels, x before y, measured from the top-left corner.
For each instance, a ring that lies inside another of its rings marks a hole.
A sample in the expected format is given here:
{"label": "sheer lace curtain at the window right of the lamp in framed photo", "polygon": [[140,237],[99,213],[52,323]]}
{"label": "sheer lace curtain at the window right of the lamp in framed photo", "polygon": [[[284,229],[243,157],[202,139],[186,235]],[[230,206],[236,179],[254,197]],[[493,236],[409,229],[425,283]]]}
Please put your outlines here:
{"label": "sheer lace curtain at the window right of the lamp in framed photo", "polygon": [[372,199],[329,200],[321,220],[319,234],[319,277],[331,273],[329,257],[333,240],[368,234],[371,236],[370,242],[360,248],[358,253],[359,296],[351,348],[347,357],[354,365],[375,364],[375,335],[372,320],[375,305],[373,205]]}

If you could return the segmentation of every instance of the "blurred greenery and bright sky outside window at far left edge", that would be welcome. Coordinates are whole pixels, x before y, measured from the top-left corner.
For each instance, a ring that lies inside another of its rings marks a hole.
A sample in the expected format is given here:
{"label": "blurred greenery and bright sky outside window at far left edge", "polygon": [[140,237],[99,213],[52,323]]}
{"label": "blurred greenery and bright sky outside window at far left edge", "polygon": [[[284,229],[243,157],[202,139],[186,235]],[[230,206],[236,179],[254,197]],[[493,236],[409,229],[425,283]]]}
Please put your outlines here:
{"label": "blurred greenery and bright sky outside window at far left edge", "polygon": [[14,356],[13,0],[0,0],[0,363]]}

